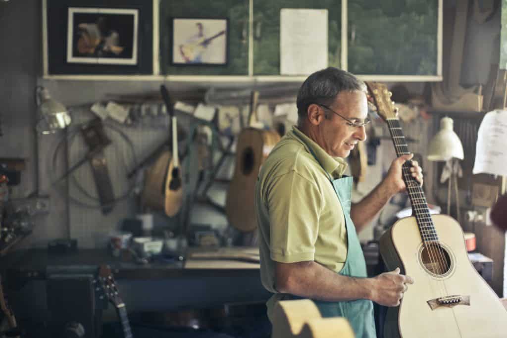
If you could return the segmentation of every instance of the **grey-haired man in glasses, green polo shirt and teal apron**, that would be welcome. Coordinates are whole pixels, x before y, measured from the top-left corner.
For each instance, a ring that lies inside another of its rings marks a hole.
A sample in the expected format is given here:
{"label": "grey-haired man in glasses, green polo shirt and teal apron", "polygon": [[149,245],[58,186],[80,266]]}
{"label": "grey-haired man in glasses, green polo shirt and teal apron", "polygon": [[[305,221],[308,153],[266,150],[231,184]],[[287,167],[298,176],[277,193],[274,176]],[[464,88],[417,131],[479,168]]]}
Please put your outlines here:
{"label": "grey-haired man in glasses, green polo shirt and teal apron", "polygon": [[[261,278],[274,293],[268,316],[277,301],[310,298],[322,316],[346,317],[356,337],[374,337],[372,301],[399,305],[413,280],[400,269],[366,278],[356,232],[405,190],[402,164],[413,155],[394,160],[383,181],[351,206],[352,177],[342,175],[344,159],[366,139],[365,84],[329,67],[303,83],[297,106],[298,126],[275,146],[256,186]],[[411,163],[422,184],[421,168]]]}

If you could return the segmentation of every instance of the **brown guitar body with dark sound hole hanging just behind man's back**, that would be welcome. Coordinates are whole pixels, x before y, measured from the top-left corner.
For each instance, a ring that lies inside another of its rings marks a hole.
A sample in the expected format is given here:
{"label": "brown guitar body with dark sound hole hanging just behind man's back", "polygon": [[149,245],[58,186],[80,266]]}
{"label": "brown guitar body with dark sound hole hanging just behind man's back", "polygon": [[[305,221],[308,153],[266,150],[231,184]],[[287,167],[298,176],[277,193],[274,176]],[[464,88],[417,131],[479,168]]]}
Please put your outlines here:
{"label": "brown guitar body with dark sound hole hanging just behind man's back", "polygon": [[227,219],[236,229],[244,232],[257,229],[253,206],[257,176],[279,140],[276,132],[256,128],[245,128],[238,136],[236,165],[225,206]]}

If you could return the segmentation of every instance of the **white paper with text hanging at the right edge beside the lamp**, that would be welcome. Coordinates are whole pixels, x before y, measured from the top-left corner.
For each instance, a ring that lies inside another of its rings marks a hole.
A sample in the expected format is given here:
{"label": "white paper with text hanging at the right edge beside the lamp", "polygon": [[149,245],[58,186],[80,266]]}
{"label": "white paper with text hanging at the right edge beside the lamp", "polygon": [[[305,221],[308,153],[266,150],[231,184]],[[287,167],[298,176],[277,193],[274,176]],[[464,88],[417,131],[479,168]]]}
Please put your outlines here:
{"label": "white paper with text hanging at the right edge beside the lamp", "polygon": [[477,135],[474,174],[507,175],[507,110],[488,112]]}

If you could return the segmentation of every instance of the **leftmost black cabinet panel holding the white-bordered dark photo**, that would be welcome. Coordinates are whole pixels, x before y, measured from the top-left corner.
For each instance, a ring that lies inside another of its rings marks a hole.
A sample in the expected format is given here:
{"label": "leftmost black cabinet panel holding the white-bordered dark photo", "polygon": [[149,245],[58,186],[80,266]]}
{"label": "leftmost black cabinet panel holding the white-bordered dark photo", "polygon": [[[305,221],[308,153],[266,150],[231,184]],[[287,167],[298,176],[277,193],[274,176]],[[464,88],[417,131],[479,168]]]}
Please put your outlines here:
{"label": "leftmost black cabinet panel holding the white-bordered dark photo", "polygon": [[[44,15],[49,76],[153,74],[153,2],[46,0]],[[103,23],[99,18],[105,19],[109,28],[98,29],[99,23]],[[80,24],[86,27],[80,27]],[[99,30],[108,34],[98,45],[79,42],[83,31],[94,36],[96,41]],[[82,53],[77,52],[78,43],[81,43]],[[107,43],[110,45],[104,48]],[[111,45],[121,51],[111,52]],[[86,53],[83,46],[98,47],[102,51]]]}

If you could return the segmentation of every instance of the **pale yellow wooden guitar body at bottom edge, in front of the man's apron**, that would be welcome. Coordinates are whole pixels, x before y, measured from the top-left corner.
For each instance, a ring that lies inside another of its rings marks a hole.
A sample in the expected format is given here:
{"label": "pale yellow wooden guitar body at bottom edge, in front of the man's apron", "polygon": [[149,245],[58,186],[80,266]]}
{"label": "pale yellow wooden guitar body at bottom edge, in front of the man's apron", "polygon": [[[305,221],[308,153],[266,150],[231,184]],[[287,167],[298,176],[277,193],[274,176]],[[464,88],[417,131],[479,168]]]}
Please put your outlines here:
{"label": "pale yellow wooden guitar body at bottom edge, in front of the man's apron", "polygon": [[346,318],[322,318],[310,299],[276,303],[272,320],[272,338],[354,338]]}

